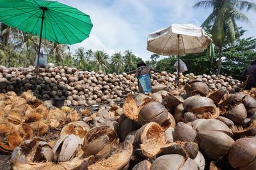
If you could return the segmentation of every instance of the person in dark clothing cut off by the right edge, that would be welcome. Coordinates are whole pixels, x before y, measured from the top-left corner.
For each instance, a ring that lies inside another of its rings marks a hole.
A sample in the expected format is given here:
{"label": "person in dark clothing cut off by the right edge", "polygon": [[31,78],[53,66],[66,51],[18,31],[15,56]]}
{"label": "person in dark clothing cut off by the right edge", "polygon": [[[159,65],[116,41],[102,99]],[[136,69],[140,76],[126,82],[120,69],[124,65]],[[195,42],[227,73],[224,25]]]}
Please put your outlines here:
{"label": "person in dark clothing cut off by the right edge", "polygon": [[253,62],[246,67],[241,76],[241,80],[246,81],[245,90],[251,90],[252,87],[256,87],[256,60],[253,60]]}

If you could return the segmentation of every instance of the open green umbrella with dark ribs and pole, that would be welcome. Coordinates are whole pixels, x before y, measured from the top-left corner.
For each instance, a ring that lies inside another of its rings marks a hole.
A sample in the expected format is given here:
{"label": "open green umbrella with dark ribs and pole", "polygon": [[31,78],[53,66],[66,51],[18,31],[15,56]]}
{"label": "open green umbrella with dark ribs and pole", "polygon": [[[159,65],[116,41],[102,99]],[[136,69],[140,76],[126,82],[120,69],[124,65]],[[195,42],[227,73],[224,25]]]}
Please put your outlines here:
{"label": "open green umbrella with dark ribs and pole", "polygon": [[72,45],[88,38],[92,30],[89,15],[56,1],[0,0],[0,22],[40,36],[38,58],[42,38]]}

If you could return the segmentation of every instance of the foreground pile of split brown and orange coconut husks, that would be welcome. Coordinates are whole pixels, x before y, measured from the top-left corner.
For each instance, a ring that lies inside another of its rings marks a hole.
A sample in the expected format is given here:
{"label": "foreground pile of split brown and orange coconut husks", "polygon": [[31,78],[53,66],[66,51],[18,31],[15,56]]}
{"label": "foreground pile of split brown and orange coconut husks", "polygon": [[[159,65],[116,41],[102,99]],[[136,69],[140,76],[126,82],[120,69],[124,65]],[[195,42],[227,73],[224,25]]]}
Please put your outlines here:
{"label": "foreground pile of split brown and orange coconut husks", "polygon": [[0,150],[26,170],[256,169],[256,90],[208,88],[129,94],[95,113],[0,94]]}

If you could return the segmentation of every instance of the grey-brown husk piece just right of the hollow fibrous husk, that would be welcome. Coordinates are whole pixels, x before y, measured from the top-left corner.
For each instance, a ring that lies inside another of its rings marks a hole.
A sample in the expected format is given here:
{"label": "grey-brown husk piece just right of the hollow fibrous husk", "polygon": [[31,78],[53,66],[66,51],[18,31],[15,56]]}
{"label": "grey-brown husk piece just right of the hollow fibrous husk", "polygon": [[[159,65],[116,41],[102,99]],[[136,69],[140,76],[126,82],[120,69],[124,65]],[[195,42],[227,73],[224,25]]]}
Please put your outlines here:
{"label": "grey-brown husk piece just right of the hollow fibrous husk", "polygon": [[174,129],[175,141],[195,141],[196,131],[188,124],[179,122]]}

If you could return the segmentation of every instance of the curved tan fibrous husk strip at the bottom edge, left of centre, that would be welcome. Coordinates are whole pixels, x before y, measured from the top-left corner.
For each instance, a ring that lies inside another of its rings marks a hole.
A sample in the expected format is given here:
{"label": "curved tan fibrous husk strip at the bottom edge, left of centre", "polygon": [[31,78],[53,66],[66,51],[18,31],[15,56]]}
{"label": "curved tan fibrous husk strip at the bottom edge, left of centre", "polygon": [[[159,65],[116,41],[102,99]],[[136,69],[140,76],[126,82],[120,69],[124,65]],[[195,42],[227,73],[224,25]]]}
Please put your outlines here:
{"label": "curved tan fibrous husk strip at the bottom edge, left of centre", "polygon": [[95,164],[92,164],[88,169],[106,169],[106,170],[118,170],[125,167],[132,156],[132,145],[129,142],[121,143],[116,151],[108,158],[99,160]]}

